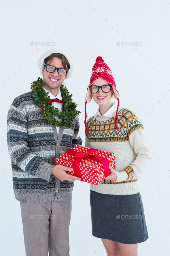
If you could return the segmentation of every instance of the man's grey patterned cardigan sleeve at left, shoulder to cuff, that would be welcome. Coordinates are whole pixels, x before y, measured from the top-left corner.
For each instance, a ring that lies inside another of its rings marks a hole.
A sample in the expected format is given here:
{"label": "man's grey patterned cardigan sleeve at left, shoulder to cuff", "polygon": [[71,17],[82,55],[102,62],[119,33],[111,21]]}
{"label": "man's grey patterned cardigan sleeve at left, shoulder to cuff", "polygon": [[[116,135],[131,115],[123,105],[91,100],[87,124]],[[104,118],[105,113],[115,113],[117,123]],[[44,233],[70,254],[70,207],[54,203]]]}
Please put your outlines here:
{"label": "man's grey patterned cardigan sleeve at left, shoulder to cuff", "polygon": [[7,116],[7,144],[14,165],[35,177],[50,181],[54,165],[33,154],[28,147],[28,122],[24,110],[10,106]]}

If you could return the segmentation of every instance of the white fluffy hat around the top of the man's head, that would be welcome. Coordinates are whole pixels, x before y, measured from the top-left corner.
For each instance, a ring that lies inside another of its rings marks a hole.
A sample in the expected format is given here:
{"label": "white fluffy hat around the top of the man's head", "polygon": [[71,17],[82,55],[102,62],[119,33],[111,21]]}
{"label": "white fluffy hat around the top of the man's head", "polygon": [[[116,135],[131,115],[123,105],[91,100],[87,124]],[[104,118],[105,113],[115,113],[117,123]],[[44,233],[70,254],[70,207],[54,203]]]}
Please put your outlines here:
{"label": "white fluffy hat around the top of the man's head", "polygon": [[37,61],[37,65],[38,65],[38,67],[39,67],[39,72],[40,72],[40,74],[41,74],[41,76],[42,76],[42,70],[43,70],[43,64],[44,64],[44,59],[45,58],[47,58],[48,56],[50,56],[50,54],[52,54],[52,53],[61,53],[61,54],[63,54],[66,58],[67,58],[67,60],[68,60],[68,62],[70,63],[70,69],[69,69],[69,72],[67,73],[67,78],[69,78],[70,77],[70,75],[71,75],[71,73],[73,73],[72,71],[73,71],[73,64],[71,63],[71,60],[70,60],[70,57],[68,56],[68,54],[64,54],[63,53],[63,51],[61,51],[60,49],[57,49],[57,48],[54,48],[54,49],[50,49],[49,51],[46,51],[39,59],[38,59],[38,61]]}

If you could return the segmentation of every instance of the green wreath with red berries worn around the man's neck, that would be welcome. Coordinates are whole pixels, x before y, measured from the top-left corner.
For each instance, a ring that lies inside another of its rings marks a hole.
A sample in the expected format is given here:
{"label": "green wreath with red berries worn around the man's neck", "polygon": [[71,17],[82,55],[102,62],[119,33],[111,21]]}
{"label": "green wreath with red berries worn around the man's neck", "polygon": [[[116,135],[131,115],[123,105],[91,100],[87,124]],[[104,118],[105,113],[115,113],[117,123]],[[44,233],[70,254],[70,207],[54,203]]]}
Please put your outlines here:
{"label": "green wreath with red berries worn around the man's neck", "polygon": [[[69,95],[69,92],[63,85],[60,87],[61,96],[63,100],[62,110],[58,110],[52,106],[52,102],[50,97],[48,96],[48,92],[44,90],[42,78],[38,78],[36,81],[31,83],[31,89],[33,91],[33,99],[35,100],[35,105],[41,108],[41,112],[44,114],[48,123],[52,123],[55,126],[61,127],[70,127],[75,115],[79,115],[81,113],[76,109],[77,104],[72,102],[71,97],[72,94]],[[57,117],[57,118],[56,118]],[[62,119],[62,121],[58,121],[57,119]]]}

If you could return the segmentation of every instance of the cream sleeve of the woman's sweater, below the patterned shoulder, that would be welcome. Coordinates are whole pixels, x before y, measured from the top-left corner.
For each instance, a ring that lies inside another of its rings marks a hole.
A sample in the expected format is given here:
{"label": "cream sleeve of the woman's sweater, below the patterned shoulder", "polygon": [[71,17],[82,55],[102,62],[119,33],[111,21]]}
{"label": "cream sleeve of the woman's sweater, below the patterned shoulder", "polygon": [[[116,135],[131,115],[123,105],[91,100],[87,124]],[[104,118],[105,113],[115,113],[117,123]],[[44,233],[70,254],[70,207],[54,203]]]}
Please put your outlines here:
{"label": "cream sleeve of the woman's sweater, below the patterned shoulder", "polygon": [[152,153],[143,129],[136,129],[129,135],[129,142],[134,149],[136,159],[124,171],[118,172],[116,182],[137,179],[148,169]]}

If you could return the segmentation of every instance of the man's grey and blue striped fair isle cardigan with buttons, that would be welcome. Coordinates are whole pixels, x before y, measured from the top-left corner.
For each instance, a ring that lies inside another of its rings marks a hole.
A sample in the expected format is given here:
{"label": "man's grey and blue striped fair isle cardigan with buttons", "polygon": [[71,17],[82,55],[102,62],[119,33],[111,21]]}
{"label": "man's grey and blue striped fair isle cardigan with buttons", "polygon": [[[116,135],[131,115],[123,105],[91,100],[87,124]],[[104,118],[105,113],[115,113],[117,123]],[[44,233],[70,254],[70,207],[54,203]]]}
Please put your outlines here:
{"label": "man's grey and blue striped fair isle cardigan with buttons", "polygon": [[71,128],[60,128],[58,134],[56,126],[35,106],[32,94],[17,97],[7,116],[15,198],[33,203],[71,200],[73,182],[60,181],[51,172],[58,156],[82,144],[78,116]]}

